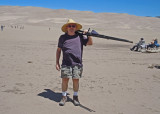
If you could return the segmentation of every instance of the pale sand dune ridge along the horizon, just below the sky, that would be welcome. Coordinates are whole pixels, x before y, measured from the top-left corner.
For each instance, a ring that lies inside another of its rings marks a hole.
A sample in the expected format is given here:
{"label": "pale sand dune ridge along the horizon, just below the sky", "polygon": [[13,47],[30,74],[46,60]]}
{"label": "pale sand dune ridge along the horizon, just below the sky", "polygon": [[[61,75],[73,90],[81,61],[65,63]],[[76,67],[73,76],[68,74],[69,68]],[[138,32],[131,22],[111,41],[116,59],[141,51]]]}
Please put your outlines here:
{"label": "pale sand dune ridge along the horizon, just below the sky", "polygon": [[41,7],[0,6],[1,24],[51,25],[65,23],[68,18],[91,27],[114,29],[157,29],[160,19],[121,13],[94,13],[91,11],[48,9]]}

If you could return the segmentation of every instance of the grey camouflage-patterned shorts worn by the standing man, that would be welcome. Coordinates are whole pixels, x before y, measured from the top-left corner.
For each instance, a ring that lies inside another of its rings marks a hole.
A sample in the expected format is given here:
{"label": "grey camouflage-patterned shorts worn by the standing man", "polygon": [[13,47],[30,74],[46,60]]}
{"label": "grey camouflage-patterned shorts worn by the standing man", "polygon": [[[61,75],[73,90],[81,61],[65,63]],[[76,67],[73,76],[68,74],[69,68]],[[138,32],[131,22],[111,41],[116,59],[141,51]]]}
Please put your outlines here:
{"label": "grey camouflage-patterned shorts worn by the standing man", "polygon": [[62,65],[61,67],[61,78],[73,78],[73,79],[79,79],[82,77],[82,66],[66,66]]}

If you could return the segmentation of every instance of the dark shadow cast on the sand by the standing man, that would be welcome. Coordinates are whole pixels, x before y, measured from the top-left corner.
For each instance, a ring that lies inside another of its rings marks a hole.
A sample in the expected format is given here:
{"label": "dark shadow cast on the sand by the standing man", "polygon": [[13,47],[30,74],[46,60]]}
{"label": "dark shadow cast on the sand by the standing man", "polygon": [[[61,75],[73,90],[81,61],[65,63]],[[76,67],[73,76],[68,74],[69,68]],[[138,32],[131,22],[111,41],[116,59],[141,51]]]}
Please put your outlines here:
{"label": "dark shadow cast on the sand by the standing man", "polygon": [[[44,89],[44,90],[45,90],[45,92],[39,93],[38,96],[41,96],[41,97],[44,97],[44,98],[48,98],[48,99],[50,99],[52,101],[55,101],[57,103],[59,103],[61,101],[62,93],[59,93],[59,92],[56,93],[56,92],[54,92],[54,91],[52,91],[50,89]],[[73,100],[69,96],[67,96],[67,97],[68,97],[67,101],[73,103]],[[83,109],[85,109],[85,110],[87,110],[89,112],[95,112],[94,110],[92,110],[92,109],[90,109],[90,108],[88,108],[88,107],[86,107],[86,106],[84,106],[82,104],[80,104],[79,107],[81,107],[81,108],[83,108]]]}

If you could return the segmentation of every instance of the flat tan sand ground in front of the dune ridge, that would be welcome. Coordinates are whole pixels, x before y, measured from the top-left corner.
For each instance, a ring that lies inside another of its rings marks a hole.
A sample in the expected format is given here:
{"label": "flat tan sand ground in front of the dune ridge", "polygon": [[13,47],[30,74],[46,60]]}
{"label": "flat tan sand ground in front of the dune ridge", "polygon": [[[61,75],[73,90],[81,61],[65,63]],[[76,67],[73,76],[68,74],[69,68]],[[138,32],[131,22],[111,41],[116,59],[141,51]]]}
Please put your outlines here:
{"label": "flat tan sand ground in front of the dune ridge", "polygon": [[[93,38],[93,46],[84,48],[82,105],[75,107],[69,101],[60,107],[61,79],[55,69],[55,53],[63,23],[50,31],[48,26],[24,25],[24,30],[6,27],[0,32],[0,114],[160,113],[160,70],[148,68],[159,64],[160,53],[131,52],[132,44],[98,38]],[[105,33],[105,27],[98,27]],[[109,33],[133,41],[146,35],[150,41],[150,36],[158,34],[159,29],[154,30],[115,32],[111,28]],[[71,80],[68,93],[72,99]]]}

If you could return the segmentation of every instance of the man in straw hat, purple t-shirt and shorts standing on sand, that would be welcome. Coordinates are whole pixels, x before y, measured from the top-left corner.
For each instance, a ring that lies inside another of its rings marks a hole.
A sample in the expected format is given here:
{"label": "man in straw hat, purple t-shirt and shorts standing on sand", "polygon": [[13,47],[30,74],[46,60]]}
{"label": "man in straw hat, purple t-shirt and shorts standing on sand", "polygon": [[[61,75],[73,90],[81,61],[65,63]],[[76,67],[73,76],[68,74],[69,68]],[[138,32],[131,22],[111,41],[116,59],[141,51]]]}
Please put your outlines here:
{"label": "man in straw hat, purple t-shirt and shorts standing on sand", "polygon": [[[62,78],[62,99],[59,103],[60,106],[64,106],[67,101],[67,89],[69,79],[73,81],[73,103],[75,106],[80,105],[78,100],[79,79],[82,77],[82,53],[83,45],[92,45],[92,38],[89,36],[84,37],[76,33],[80,30],[82,25],[76,23],[74,20],[69,19],[66,24],[62,26],[62,31],[65,34],[61,35],[58,42],[58,48],[56,52],[56,69],[60,71]],[[59,59],[63,52],[63,60],[60,68]]]}

